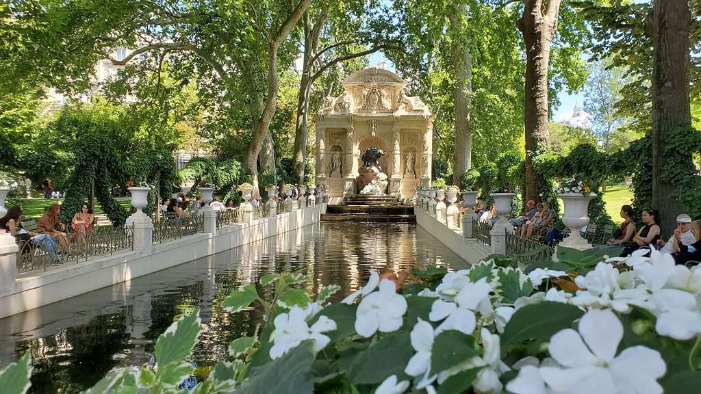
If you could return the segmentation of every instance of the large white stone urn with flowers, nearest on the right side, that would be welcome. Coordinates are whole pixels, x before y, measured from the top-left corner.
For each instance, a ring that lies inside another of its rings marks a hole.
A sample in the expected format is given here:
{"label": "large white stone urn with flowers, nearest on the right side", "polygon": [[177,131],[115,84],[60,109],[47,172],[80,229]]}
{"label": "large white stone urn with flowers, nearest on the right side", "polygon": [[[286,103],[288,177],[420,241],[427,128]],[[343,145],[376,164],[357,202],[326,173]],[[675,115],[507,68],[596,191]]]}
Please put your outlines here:
{"label": "large white stone urn with flowers, nearest on the right side", "polygon": [[556,189],[557,196],[562,198],[565,212],[562,223],[570,229],[570,236],[561,245],[575,249],[591,247],[587,240],[580,236],[580,229],[589,224],[589,203],[597,197],[592,189],[578,176],[566,179]]}

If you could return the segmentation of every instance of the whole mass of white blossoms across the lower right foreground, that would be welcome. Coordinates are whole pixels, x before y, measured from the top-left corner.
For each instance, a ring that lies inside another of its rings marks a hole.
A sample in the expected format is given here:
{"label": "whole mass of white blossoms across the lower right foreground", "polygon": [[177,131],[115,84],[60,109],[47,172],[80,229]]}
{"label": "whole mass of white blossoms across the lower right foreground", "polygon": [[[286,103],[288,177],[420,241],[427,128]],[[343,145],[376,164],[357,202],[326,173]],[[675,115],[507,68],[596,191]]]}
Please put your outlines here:
{"label": "whole mass of white blossoms across the lower right foreground", "polygon": [[[632,271],[618,271],[612,262],[625,262]],[[436,385],[469,369],[479,369],[472,383],[472,390],[479,394],[662,393],[658,379],[667,373],[665,360],[657,350],[645,346],[619,351],[624,328],[617,313],[642,308],[655,316],[655,331],[661,336],[677,340],[699,336],[701,269],[675,266],[669,254],[655,250],[650,258],[638,252],[625,260],[602,261],[593,271],[578,276],[575,283],[580,290],[574,294],[549,285],[547,292],[531,294],[531,289],[560,277],[568,274],[535,269],[525,275],[518,269],[498,268],[493,261],[486,261],[470,270],[447,273],[435,291],[424,289],[407,296],[435,299],[428,321],[418,318],[409,334],[415,353],[404,367],[404,374],[414,379],[400,380],[393,374],[375,393],[404,393],[410,386],[412,392],[435,393]],[[509,280],[508,286],[502,280]],[[517,299],[502,297],[506,287],[513,294],[516,285],[520,286],[520,294],[528,295]],[[371,272],[365,287],[342,302],[353,304],[359,297],[362,298],[355,315],[358,336],[371,338],[396,332],[405,323],[412,324],[404,322],[407,297],[397,294],[395,283],[380,280],[376,272]],[[530,356],[507,365],[501,348],[505,326],[519,309],[543,301],[570,304],[585,313],[577,323],[573,322],[576,330],[567,328],[550,337],[547,356]],[[308,325],[318,310],[318,304],[293,307],[290,313],[275,318],[271,358],[280,357],[306,339],[312,339],[317,350],[329,344],[329,337],[323,333],[336,330],[333,320],[322,315],[311,327]],[[475,338],[478,355],[445,370],[432,370],[435,341],[449,330]],[[512,370],[517,372],[516,377],[504,386],[503,374]]]}

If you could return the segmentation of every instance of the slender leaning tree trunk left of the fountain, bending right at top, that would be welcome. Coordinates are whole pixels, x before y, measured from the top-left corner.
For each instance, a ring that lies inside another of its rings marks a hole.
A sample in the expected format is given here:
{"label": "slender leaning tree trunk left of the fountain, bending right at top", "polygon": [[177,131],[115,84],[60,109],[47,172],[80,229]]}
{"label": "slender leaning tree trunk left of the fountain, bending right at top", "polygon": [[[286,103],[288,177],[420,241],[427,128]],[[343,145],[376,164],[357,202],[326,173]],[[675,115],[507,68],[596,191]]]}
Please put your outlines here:
{"label": "slender leaning tree trunk left of the fountain, bending right at top", "polygon": [[312,0],[300,0],[297,6],[294,7],[290,16],[285,20],[283,26],[275,32],[274,36],[268,36],[268,97],[266,98],[265,107],[261,114],[260,121],[253,131],[251,141],[246,148],[246,153],[243,160],[243,168],[249,170],[253,177],[253,193],[258,196],[258,165],[257,158],[260,153],[263,141],[270,131],[270,123],[275,115],[278,100],[278,48],[290,35],[294,25],[297,25],[299,19],[304,15],[306,9],[311,4]]}

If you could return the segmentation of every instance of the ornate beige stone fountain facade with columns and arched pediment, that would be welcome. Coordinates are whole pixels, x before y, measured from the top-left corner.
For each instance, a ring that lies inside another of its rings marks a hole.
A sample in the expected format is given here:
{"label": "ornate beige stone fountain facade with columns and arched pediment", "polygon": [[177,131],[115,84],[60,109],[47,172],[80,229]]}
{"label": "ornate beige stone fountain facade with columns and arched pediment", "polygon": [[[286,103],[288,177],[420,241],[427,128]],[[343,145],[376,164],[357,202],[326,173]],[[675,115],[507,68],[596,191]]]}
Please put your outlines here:
{"label": "ornate beige stone fountain facade with columns and arched pediment", "polygon": [[343,82],[339,97],[326,97],[316,115],[316,181],[329,186],[332,202],[359,193],[362,156],[385,154],[387,193],[408,201],[416,186],[431,182],[433,114],[407,82],[385,69],[363,69]]}

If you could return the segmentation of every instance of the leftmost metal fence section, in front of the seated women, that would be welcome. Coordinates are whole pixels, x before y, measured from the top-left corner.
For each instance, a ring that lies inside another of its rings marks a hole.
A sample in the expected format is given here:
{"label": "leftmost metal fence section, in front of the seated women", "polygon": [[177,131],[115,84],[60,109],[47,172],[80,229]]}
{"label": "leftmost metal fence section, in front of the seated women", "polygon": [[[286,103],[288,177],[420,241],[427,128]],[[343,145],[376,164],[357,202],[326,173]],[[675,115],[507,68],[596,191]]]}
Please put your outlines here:
{"label": "leftmost metal fence section, in front of the seated women", "polygon": [[90,233],[78,232],[74,236],[48,236],[40,234],[32,240],[22,240],[17,255],[18,272],[34,269],[46,271],[48,266],[87,261],[90,257],[102,257],[133,250],[134,229],[123,226],[117,229],[99,227]]}

